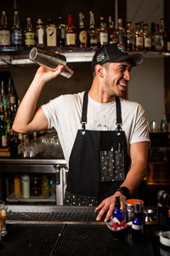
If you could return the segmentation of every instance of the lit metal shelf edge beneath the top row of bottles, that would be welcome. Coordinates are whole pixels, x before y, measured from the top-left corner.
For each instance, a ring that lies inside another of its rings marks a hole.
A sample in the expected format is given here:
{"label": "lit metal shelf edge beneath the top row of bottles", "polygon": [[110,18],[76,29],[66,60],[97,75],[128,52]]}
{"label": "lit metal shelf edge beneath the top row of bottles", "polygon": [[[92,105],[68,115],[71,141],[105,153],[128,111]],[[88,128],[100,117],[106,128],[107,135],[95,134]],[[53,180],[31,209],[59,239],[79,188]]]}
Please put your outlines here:
{"label": "lit metal shelf edge beneath the top row of bottles", "polygon": [[[92,61],[95,49],[49,49],[59,51],[59,54],[65,55],[67,62],[88,62]],[[16,50],[14,48],[0,49],[0,66],[22,66],[36,65],[29,59],[28,49]],[[129,54],[140,54],[144,58],[159,58],[170,56],[169,52],[154,51],[129,51]]]}

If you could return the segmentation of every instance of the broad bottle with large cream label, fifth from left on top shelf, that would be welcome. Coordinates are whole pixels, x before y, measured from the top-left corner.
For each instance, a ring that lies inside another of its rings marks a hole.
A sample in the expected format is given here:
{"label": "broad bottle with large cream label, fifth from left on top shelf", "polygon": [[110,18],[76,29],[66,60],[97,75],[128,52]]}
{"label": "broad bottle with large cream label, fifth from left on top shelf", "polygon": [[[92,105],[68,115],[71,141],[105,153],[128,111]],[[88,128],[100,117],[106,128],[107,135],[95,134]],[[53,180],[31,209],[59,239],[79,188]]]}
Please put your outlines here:
{"label": "broad bottle with large cream label, fifth from left on top shelf", "polygon": [[48,19],[48,24],[45,27],[46,35],[46,46],[56,47],[57,46],[57,28],[53,24],[51,19]]}

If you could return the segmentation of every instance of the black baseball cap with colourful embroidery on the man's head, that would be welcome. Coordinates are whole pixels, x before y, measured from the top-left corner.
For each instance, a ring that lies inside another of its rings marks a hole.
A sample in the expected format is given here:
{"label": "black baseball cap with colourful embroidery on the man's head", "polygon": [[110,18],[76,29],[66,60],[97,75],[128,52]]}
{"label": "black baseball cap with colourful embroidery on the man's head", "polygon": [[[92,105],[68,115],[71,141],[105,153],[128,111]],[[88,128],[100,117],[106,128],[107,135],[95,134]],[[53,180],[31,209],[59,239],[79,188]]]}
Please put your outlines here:
{"label": "black baseball cap with colourful embroidery on the man's head", "polygon": [[132,66],[138,66],[144,61],[143,55],[133,54],[129,55],[127,50],[123,48],[122,44],[103,45],[94,54],[92,60],[92,70],[96,64],[103,65],[106,62],[130,61]]}

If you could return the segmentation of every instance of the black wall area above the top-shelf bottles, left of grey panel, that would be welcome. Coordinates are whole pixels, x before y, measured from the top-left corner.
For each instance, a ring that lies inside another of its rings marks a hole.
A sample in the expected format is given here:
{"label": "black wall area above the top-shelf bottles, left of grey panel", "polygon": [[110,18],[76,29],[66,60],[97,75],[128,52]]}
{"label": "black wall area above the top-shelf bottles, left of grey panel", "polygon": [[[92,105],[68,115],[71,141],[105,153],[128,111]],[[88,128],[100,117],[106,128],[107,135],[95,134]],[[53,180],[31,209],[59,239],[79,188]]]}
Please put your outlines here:
{"label": "black wall area above the top-shelf bottles, left of grey panel", "polygon": [[[108,22],[109,15],[115,15],[114,0],[0,0],[0,11],[6,10],[8,26],[13,26],[14,3],[20,13],[20,26],[26,28],[26,17],[30,16],[32,25],[35,28],[37,19],[41,19],[44,25],[48,23],[48,18],[58,24],[59,15],[63,16],[64,22],[67,23],[67,15],[73,15],[73,23],[78,26],[78,13],[82,11],[85,15],[85,26],[89,25],[89,11],[94,12],[95,24],[99,26],[99,17],[104,16],[105,22]],[[123,24],[126,25],[126,0],[118,1],[118,17],[122,18]],[[115,18],[114,18],[115,19]]]}

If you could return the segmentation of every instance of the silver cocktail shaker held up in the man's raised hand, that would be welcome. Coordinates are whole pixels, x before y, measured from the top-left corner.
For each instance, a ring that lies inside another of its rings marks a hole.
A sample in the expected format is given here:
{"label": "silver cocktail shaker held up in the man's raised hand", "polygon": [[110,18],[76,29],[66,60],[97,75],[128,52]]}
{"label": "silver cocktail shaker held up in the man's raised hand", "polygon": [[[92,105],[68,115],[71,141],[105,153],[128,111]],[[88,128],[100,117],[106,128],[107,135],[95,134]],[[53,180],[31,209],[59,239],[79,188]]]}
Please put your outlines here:
{"label": "silver cocktail shaker held up in the man's raised hand", "polygon": [[70,79],[74,73],[73,68],[66,63],[64,55],[33,47],[30,51],[29,57],[31,61],[36,62],[38,65],[47,67],[50,70],[54,70],[59,64],[64,65],[64,69],[60,74],[67,79]]}

